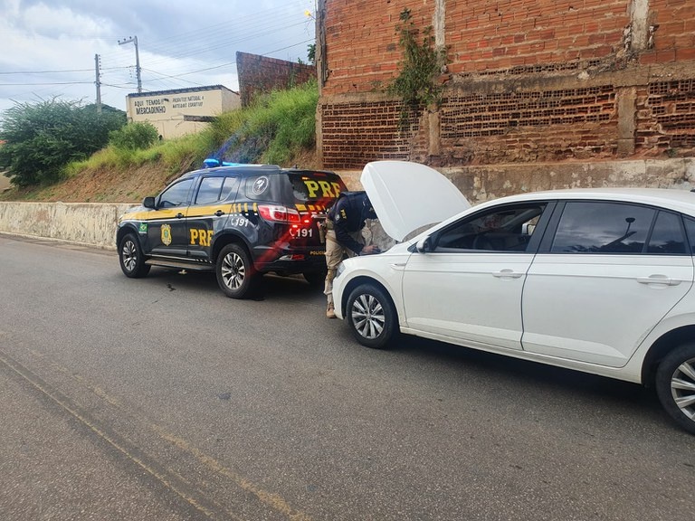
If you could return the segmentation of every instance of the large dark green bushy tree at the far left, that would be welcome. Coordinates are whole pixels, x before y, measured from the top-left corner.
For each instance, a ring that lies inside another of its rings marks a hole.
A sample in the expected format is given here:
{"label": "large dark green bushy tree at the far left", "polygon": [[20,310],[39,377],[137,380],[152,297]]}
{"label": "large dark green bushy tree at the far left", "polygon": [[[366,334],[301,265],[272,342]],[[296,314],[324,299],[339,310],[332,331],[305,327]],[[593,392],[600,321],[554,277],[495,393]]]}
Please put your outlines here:
{"label": "large dark green bushy tree at the far left", "polygon": [[58,98],[17,103],[3,113],[0,169],[17,186],[51,184],[62,168],[105,147],[109,132],[126,124],[122,110]]}

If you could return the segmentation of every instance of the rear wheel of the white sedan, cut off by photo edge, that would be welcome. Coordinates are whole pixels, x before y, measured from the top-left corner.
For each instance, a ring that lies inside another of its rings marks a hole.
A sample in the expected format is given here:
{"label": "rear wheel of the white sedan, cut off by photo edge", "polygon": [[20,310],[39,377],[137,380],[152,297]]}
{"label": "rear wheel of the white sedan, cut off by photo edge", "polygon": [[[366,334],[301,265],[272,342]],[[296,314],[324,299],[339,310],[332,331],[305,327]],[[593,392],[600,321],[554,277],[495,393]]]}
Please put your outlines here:
{"label": "rear wheel of the white sedan, cut off by photo edge", "polygon": [[695,344],[664,357],[656,372],[656,392],[671,418],[695,434]]}

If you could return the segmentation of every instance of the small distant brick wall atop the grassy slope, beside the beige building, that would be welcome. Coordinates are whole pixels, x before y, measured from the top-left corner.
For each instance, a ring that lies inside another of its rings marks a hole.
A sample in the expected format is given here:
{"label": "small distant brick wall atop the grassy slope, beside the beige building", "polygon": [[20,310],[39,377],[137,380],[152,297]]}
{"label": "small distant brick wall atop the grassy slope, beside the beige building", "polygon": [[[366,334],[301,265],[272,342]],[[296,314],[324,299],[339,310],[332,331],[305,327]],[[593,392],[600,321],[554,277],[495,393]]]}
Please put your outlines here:
{"label": "small distant brick wall atop the grassy slope, beside the beige building", "polygon": [[286,62],[246,52],[236,53],[236,71],[242,107],[248,107],[259,93],[287,89],[316,78],[316,68],[303,63]]}

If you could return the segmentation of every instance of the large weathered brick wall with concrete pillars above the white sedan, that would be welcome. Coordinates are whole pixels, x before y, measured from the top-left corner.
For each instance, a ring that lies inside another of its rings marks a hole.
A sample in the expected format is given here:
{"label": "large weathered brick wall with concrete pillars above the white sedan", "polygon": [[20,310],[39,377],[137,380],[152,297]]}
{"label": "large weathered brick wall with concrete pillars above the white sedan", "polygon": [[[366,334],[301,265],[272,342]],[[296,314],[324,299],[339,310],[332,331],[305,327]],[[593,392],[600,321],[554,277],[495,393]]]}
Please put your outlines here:
{"label": "large weathered brick wall with concrete pillars above the white sedan", "polygon": [[[327,168],[692,156],[695,0],[325,0]],[[403,128],[395,27],[443,16],[443,102]]]}

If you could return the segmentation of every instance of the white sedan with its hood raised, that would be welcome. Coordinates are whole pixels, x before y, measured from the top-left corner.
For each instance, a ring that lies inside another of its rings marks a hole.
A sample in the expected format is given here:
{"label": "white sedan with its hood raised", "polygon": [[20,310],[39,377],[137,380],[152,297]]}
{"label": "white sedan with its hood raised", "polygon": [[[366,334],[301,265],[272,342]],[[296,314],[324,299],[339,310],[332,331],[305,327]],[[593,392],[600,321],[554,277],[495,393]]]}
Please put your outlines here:
{"label": "white sedan with its hood raised", "polygon": [[362,184],[397,241],[448,218],[342,263],[336,315],[359,343],[423,336],[652,384],[695,433],[695,194],[577,189],[466,209],[443,175],[393,161]]}

